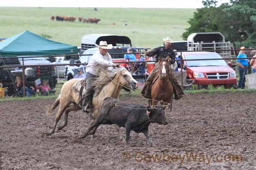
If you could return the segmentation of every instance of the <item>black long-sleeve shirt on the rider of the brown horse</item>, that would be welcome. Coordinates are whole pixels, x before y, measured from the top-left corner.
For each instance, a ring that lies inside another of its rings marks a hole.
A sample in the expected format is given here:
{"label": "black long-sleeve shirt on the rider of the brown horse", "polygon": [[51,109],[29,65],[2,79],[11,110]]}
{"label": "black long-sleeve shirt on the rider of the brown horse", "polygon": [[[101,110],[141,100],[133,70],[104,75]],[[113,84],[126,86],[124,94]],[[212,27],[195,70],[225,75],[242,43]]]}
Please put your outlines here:
{"label": "black long-sleeve shirt on the rider of the brown horse", "polygon": [[172,59],[171,64],[175,62],[175,52],[172,50],[172,48],[166,48],[165,46],[157,47],[151,51],[148,51],[147,56],[153,57],[156,54],[156,62],[158,62],[158,57],[161,57],[161,59],[166,59],[168,56]]}

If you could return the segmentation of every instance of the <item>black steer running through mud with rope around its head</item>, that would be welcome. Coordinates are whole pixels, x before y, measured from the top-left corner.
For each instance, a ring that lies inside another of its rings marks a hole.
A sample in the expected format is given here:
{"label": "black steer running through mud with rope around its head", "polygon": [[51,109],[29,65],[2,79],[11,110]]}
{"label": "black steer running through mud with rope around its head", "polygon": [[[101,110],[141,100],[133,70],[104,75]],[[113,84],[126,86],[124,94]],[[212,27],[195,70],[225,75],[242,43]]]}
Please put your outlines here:
{"label": "black steer running through mud with rope around its head", "polygon": [[131,130],[136,133],[144,133],[147,141],[152,144],[148,126],[153,122],[160,125],[168,124],[162,108],[145,108],[143,105],[122,103],[115,98],[107,97],[102,102],[99,114],[93,124],[79,138],[94,134],[101,124],[116,124],[119,127],[125,127],[126,144],[129,142]]}

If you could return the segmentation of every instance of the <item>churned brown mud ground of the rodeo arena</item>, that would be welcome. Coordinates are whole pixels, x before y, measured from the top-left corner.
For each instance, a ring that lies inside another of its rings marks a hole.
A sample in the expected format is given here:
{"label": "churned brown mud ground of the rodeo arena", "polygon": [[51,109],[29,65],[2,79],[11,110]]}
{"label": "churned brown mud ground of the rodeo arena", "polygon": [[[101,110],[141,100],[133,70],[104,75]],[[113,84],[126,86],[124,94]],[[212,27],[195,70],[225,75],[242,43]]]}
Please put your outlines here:
{"label": "churned brown mud ground of the rodeo arena", "polygon": [[[1,170],[252,170],[256,168],[256,93],[187,94],[166,111],[169,125],[151,124],[154,142],[131,132],[119,141],[113,125],[101,125],[94,139],[77,138],[91,120],[69,114],[67,127],[52,136],[54,100],[0,102]],[[139,96],[122,101],[143,103]],[[55,112],[57,109],[55,110]],[[64,116],[58,125],[61,125]],[[125,129],[122,128],[123,136]],[[193,158],[194,157],[194,158]]]}

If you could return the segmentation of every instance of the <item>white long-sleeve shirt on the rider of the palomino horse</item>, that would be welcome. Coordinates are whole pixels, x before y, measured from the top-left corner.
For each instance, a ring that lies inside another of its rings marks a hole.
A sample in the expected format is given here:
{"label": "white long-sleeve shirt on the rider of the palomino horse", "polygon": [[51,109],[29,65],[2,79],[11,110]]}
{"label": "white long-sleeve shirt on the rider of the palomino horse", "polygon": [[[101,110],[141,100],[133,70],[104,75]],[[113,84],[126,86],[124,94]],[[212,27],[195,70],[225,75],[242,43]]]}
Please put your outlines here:
{"label": "white long-sleeve shirt on the rider of the palomino horse", "polygon": [[94,76],[99,76],[102,70],[113,69],[108,66],[113,66],[111,55],[107,53],[105,56],[102,56],[99,50],[97,50],[91,57],[85,71],[93,74]]}

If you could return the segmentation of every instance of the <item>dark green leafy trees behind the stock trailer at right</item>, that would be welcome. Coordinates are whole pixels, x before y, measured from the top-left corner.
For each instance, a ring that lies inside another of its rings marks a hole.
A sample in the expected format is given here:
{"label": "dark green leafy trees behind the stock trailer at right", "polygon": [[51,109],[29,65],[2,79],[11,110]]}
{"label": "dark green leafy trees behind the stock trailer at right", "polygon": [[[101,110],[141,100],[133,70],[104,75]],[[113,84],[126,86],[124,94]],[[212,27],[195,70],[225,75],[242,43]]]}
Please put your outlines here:
{"label": "dark green leafy trees behind the stock trailer at right", "polygon": [[221,32],[235,47],[256,47],[256,0],[230,0],[217,6],[219,0],[202,0],[189,19],[184,40],[194,32]]}

